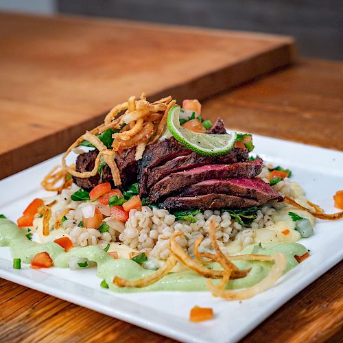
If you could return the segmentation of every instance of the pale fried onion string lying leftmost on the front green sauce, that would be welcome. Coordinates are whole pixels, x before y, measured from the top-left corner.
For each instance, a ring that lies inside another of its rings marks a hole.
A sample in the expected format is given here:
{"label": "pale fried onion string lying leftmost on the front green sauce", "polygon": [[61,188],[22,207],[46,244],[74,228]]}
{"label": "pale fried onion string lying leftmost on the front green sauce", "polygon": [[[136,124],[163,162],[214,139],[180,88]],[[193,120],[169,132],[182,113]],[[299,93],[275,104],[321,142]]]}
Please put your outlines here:
{"label": "pale fried onion string lying leftmost on the front green sauce", "polygon": [[156,270],[156,272],[154,272],[151,275],[147,275],[141,279],[133,281],[122,279],[119,276],[115,276],[115,278],[113,279],[113,283],[118,287],[146,287],[148,285],[156,283],[156,281],[158,280],[161,280],[163,276],[168,274],[168,272],[171,270],[171,268],[174,267],[174,265],[176,265],[176,258],[174,256],[169,256],[167,261],[165,261],[165,265],[163,265],[163,267]]}

